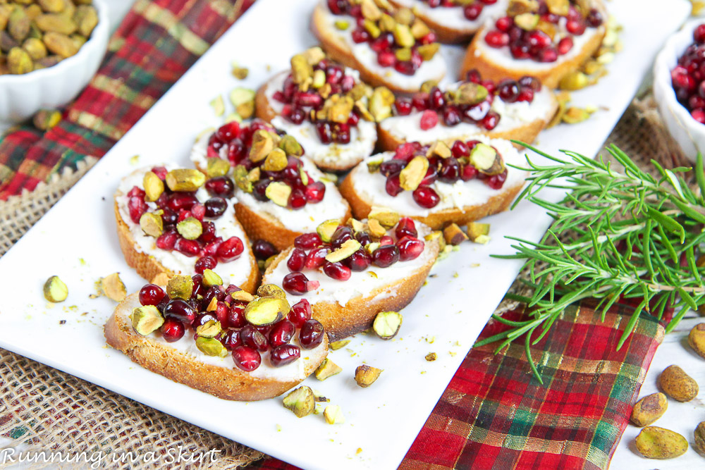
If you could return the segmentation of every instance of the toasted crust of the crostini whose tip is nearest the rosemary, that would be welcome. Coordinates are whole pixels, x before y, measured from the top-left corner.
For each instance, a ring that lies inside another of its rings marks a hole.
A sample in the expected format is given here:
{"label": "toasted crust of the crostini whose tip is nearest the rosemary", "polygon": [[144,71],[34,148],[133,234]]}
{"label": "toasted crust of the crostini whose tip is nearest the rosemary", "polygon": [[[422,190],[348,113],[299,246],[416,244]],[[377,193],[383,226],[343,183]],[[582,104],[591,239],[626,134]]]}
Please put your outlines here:
{"label": "toasted crust of the crostini whose tip is nearest the rosemary", "polygon": [[[358,219],[366,218],[369,211],[372,210],[374,201],[368,201],[360,194],[357,194],[355,187],[353,186],[352,176],[353,173],[350,173],[345,180],[343,180],[340,191],[341,194],[343,194],[343,197],[348,199],[350,206],[353,208],[353,216]],[[498,214],[499,212],[509,209],[510,204],[512,204],[514,198],[517,194],[519,194],[523,185],[523,181],[509,187],[505,185],[501,192],[499,192],[496,196],[490,197],[485,204],[465,206],[462,209],[443,209],[441,211],[431,212],[428,216],[413,216],[408,214],[401,215],[409,216],[416,221],[425,223],[434,230],[441,230],[448,223],[465,225],[468,222],[477,221],[486,216]]]}

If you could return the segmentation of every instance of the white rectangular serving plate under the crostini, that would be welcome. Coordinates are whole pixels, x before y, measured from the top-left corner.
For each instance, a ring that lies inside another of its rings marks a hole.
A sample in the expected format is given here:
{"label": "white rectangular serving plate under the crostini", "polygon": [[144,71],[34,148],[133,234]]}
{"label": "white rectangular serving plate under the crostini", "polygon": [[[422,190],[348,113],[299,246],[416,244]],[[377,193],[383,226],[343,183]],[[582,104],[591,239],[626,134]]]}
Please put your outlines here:
{"label": "white rectangular serving plate under the crostini", "polygon": [[[539,207],[522,203],[513,212],[491,217],[488,245],[464,244],[460,253],[436,265],[434,277],[403,311],[403,330],[396,340],[358,335],[349,350],[331,352],[343,373],[325,382],[309,378],[305,384],[343,407],[345,423],[340,425],[326,424],[321,415],[298,419],[282,407],[281,399],[228,402],[142,369],[105,345],[102,326],[115,304],[105,297],[89,298],[94,281],[114,271],[121,272],[128,292],[145,283],[123,260],[113,215],[118,180],[134,168],[130,157],[139,155],[140,166],[162,161],[188,165],[196,135],[217,125],[208,104],[216,94],[226,95],[238,85],[257,87],[288,66],[291,55],[315,43],[307,30],[314,4],[258,1],[0,259],[0,346],[306,469],[391,469],[404,457],[520,268],[519,262],[489,255],[512,252],[504,235],[539,240],[549,223]],[[545,151],[597,154],[666,36],[689,11],[687,1],[672,2],[669,8],[657,0],[620,0],[608,6],[624,25],[624,51],[598,85],[573,94],[578,106],[606,108],[585,123],[541,134],[538,144]],[[457,66],[462,51],[448,48],[444,54]],[[246,82],[230,74],[233,59],[250,68]],[[42,297],[42,284],[54,274],[66,281],[70,294],[66,302],[51,305]],[[61,320],[66,323],[60,326]],[[435,339],[429,344],[424,338]],[[439,359],[425,361],[429,352]],[[355,367],[363,362],[384,369],[369,389],[353,380]]]}

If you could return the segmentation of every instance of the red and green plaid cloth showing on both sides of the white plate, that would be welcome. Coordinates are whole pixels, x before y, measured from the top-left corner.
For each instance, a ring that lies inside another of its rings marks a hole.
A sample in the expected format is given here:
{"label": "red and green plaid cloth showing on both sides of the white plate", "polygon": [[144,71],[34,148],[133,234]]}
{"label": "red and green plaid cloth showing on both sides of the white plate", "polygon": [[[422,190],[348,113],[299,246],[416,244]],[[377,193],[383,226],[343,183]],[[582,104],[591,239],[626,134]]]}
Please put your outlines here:
{"label": "red and green plaid cloth showing on both sides of the white plate", "polygon": [[[253,1],[137,1],[61,123],[0,138],[0,199],[105,154]],[[613,308],[603,323],[587,306],[565,311],[532,348],[544,385],[522,341],[501,354],[471,350],[400,468],[606,469],[663,336],[644,315],[617,352],[630,308]],[[503,328],[491,321],[481,338]],[[294,468],[271,458],[254,467]]]}

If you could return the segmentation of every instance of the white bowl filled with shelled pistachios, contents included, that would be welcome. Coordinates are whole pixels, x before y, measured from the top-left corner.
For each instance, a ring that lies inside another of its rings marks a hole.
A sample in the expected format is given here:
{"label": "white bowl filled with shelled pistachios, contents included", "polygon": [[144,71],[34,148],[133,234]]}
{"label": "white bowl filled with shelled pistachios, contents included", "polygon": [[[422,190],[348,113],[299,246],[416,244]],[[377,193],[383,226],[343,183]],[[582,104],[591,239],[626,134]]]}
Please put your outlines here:
{"label": "white bowl filled with shelled pistachios, contents included", "polygon": [[71,101],[105,54],[102,0],[0,0],[0,123]]}

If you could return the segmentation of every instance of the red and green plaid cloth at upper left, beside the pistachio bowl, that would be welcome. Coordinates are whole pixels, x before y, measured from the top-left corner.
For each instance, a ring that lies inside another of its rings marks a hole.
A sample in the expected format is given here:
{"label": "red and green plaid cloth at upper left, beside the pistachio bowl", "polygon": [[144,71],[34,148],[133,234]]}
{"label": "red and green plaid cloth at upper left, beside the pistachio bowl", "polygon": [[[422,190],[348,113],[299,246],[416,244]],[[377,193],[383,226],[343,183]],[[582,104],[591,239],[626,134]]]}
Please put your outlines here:
{"label": "red and green plaid cloth at upper left, beside the pistachio bowl", "polygon": [[49,132],[0,137],[0,200],[103,156],[254,0],[137,0],[102,66]]}

